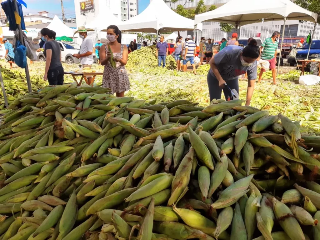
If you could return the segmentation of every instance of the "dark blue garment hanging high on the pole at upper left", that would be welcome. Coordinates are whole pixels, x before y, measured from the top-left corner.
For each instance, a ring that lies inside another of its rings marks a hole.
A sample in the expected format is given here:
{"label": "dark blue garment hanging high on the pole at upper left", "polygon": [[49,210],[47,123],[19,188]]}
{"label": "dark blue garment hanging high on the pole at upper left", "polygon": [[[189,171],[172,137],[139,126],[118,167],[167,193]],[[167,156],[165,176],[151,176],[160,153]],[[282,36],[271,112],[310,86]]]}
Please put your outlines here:
{"label": "dark blue garment hanging high on the pole at upper left", "polygon": [[[21,0],[20,0],[21,1]],[[18,5],[18,13],[21,17],[21,29],[26,30],[26,26],[24,24],[24,18],[23,18],[23,12],[22,12],[22,6],[20,3],[17,2]],[[7,16],[7,19],[9,20],[9,30],[14,31],[17,29],[16,25],[16,18],[14,16],[15,6],[14,2],[12,0],[7,0],[3,3],[1,3],[2,9]]]}

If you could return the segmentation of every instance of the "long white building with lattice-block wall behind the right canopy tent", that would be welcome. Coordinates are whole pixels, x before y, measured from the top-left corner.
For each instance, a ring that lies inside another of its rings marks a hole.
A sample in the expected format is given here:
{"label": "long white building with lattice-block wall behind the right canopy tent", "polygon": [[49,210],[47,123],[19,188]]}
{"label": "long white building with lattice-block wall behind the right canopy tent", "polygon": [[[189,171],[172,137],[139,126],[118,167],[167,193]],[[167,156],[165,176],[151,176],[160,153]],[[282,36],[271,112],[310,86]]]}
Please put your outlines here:
{"label": "long white building with lattice-block wall behind the right canopy tent", "polygon": [[[227,3],[229,0],[204,0],[204,3],[209,8],[211,5],[216,5],[217,7]],[[176,9],[177,5],[185,4],[185,8],[195,8],[199,0],[178,0],[176,3],[172,3],[167,0],[166,4],[172,9]],[[286,22],[284,29],[285,37],[306,37],[309,32],[313,30],[314,23],[304,22],[300,23],[298,20],[289,20]],[[240,27],[239,29],[232,29],[232,31],[225,33],[220,30],[219,22],[203,22],[203,30],[197,31],[196,42],[200,42],[200,38],[203,36],[205,38],[213,38],[216,41],[220,41],[222,38],[228,38],[233,32],[237,32],[239,38],[246,39],[249,37],[260,38],[264,41],[266,38],[270,37],[274,31],[279,31],[282,33],[283,21],[268,21],[248,24]],[[316,31],[314,39],[320,39],[320,25],[316,25]]]}

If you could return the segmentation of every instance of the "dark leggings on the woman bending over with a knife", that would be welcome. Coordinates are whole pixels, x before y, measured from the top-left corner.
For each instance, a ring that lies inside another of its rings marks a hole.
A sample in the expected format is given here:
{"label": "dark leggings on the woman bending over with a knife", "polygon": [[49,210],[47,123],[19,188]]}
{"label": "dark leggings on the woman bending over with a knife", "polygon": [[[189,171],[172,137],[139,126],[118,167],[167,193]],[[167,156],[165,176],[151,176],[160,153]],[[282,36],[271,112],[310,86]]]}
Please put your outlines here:
{"label": "dark leggings on the woman bending over with a knife", "polygon": [[[235,89],[237,91],[237,93],[239,94],[239,79],[238,78],[234,78],[234,79],[225,79],[226,83],[228,84],[228,86],[231,88],[231,90]],[[219,87],[219,81],[218,79],[213,76],[210,71],[208,72],[207,75],[207,82],[208,82],[208,87],[209,87],[209,94],[210,94],[210,101],[212,101],[212,99],[221,99],[221,92],[223,90],[224,96],[226,98],[226,100],[231,97],[230,94],[228,93],[228,91],[225,91],[224,88],[220,88]]]}

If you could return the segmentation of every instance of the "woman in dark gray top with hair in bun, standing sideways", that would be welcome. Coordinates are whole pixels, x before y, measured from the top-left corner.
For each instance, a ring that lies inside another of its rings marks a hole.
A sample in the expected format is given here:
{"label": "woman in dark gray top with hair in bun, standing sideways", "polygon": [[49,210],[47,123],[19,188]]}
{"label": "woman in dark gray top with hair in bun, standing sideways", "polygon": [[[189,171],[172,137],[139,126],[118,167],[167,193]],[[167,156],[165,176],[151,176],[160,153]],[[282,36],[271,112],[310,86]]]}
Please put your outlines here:
{"label": "woman in dark gray top with hair in bun, standing sideways", "polygon": [[42,28],[41,40],[45,42],[45,71],[43,79],[50,85],[62,85],[64,70],[61,64],[60,44],[55,41],[56,33],[48,28]]}

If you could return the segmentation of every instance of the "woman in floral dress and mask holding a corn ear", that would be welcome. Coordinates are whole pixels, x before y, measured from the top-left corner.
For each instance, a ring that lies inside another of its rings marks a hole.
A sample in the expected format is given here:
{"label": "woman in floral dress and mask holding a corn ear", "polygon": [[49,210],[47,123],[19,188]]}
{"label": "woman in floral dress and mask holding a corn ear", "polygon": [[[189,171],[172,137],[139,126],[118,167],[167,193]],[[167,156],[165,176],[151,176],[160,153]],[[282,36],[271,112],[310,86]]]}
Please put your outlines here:
{"label": "woman in floral dress and mask holding a corn ear", "polygon": [[[130,89],[130,82],[125,65],[128,60],[128,48],[121,44],[121,31],[115,25],[107,28],[108,44],[103,44],[100,48],[101,65],[104,66],[102,86],[116,92],[117,97],[123,97],[124,92]],[[111,52],[108,51],[108,45],[113,52],[113,59],[116,62],[116,68],[110,64]]]}

